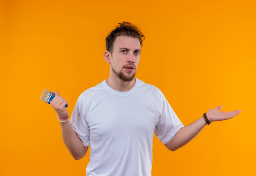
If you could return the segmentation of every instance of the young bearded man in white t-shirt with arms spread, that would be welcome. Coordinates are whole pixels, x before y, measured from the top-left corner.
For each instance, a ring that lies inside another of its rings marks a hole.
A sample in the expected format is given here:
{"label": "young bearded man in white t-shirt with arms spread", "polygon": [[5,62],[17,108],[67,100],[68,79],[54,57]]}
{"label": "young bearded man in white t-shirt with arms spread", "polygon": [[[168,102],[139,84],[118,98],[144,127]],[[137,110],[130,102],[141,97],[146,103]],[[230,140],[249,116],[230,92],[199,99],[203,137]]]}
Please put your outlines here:
{"label": "young bearded man in white t-shirt with arms spread", "polygon": [[119,24],[106,38],[108,79],[79,96],[70,122],[57,91],[51,102],[72,156],[83,158],[91,145],[87,176],[151,176],[154,133],[175,151],[210,122],[241,112],[218,106],[184,127],[162,92],[135,78],[144,35],[128,22]]}

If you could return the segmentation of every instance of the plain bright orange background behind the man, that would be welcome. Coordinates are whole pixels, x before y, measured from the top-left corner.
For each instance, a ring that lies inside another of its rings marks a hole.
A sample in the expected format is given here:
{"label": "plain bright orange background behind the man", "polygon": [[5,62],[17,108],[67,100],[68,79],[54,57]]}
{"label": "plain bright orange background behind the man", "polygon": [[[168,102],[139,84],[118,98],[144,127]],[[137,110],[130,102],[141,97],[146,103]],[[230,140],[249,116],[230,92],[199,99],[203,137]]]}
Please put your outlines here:
{"label": "plain bright orange background behind the man", "polygon": [[146,36],[136,77],[160,88],[184,125],[219,105],[243,110],[175,152],[154,136],[152,175],[256,175],[254,0],[0,0],[0,175],[85,175],[89,153],[72,158],[39,97],[58,90],[71,114],[108,77],[105,38],[122,21]]}

